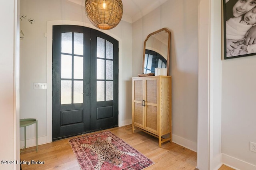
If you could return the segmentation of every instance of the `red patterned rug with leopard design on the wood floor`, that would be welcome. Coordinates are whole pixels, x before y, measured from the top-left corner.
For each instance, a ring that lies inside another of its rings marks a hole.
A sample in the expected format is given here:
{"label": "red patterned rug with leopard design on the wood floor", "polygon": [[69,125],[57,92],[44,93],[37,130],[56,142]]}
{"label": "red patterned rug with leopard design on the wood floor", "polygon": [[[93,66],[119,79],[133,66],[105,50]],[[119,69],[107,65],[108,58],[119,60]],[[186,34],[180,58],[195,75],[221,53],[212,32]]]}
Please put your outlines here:
{"label": "red patterned rug with leopard design on the wood floor", "polygon": [[154,164],[110,131],[70,139],[82,170],[142,170]]}

